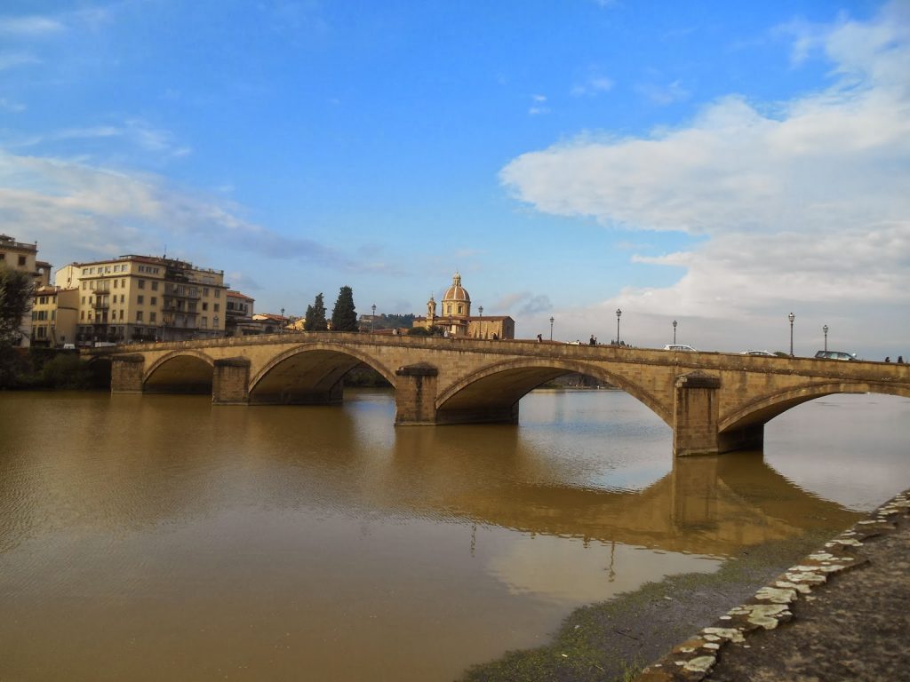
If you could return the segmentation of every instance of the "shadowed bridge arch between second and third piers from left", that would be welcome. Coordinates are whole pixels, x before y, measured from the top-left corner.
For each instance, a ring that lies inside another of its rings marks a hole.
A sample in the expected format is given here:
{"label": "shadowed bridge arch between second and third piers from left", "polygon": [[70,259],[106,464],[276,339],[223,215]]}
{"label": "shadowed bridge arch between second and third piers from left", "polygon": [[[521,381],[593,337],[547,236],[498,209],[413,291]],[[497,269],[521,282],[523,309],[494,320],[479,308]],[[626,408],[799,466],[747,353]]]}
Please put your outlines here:
{"label": "shadowed bridge arch between second and third piers from left", "polygon": [[341,379],[363,363],[395,386],[396,376],[379,358],[340,343],[305,343],[271,358],[249,382],[250,403],[340,402]]}

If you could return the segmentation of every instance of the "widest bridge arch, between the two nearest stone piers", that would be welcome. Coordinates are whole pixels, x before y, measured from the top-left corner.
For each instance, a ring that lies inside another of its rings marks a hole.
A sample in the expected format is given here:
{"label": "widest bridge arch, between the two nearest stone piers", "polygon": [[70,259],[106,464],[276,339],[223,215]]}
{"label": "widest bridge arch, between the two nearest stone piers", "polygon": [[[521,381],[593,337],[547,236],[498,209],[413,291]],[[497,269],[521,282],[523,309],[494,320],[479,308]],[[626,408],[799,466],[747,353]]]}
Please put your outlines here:
{"label": "widest bridge arch, between the two nearest stone piers", "polygon": [[601,379],[619,386],[647,406],[672,427],[672,406],[664,405],[643,386],[618,372],[597,363],[561,358],[522,357],[484,366],[445,388],[436,400],[440,423],[462,421],[477,412],[503,416],[505,411],[517,415],[518,401],[537,386],[571,372]]}

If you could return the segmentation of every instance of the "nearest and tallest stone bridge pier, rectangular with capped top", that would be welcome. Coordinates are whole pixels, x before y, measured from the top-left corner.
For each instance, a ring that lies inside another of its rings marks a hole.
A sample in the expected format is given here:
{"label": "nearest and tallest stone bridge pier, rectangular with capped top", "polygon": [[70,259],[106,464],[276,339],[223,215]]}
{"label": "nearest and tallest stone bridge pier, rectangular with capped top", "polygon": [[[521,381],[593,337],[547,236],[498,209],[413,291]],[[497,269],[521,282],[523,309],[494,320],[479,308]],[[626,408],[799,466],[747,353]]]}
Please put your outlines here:
{"label": "nearest and tallest stone bridge pier, rectangular with capped top", "polygon": [[717,455],[721,380],[701,372],[676,377],[673,401],[673,455]]}

